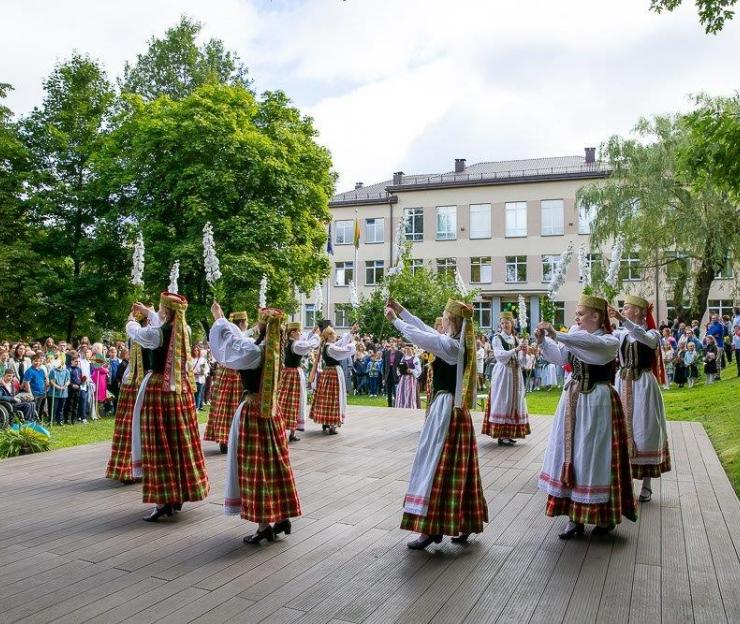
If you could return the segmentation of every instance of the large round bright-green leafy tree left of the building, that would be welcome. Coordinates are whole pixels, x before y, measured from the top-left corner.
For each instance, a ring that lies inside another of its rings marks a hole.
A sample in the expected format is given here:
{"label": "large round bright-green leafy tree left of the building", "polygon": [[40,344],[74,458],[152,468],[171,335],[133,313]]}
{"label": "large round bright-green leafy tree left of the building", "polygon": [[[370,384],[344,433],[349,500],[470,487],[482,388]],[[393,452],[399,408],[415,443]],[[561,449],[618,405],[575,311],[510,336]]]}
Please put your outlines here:
{"label": "large round bright-green leafy tree left of the building", "polygon": [[[324,251],[331,158],[308,117],[281,92],[207,84],[180,100],[127,96],[108,145],[109,195],[146,241],[144,281],[154,294],[180,260],[180,290],[206,315],[202,228],[210,221],[224,274],[225,308],[292,309],[294,292],[329,271]],[[196,316],[191,316],[196,318]]]}

